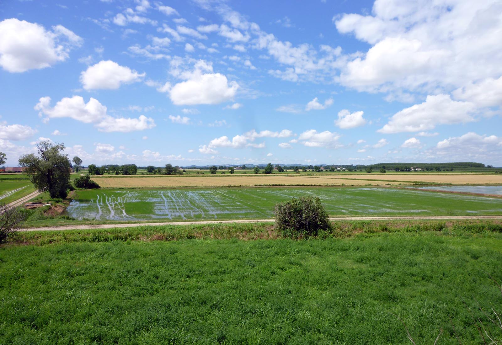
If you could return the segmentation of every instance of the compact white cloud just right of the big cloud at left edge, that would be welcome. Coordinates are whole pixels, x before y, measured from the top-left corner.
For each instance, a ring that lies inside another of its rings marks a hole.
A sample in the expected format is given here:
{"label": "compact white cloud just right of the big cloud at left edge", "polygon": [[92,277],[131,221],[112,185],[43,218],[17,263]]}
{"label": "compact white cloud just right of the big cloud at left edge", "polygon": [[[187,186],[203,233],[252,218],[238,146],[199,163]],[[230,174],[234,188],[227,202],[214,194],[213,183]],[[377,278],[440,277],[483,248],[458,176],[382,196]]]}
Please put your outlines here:
{"label": "compact white cloud just right of the big cloud at left edge", "polygon": [[140,81],[145,75],[111,60],[102,60],[80,73],[80,82],[85,90],[116,90],[122,83]]}

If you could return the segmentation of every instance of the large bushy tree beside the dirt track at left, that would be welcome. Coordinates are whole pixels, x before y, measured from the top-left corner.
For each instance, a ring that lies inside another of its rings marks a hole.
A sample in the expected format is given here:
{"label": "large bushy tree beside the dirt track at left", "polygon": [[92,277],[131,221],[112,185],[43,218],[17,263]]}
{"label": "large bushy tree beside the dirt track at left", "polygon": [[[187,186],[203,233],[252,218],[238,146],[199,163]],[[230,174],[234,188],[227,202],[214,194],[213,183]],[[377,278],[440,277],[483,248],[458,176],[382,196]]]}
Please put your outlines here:
{"label": "large bushy tree beside the dirt track at left", "polygon": [[66,198],[70,187],[70,160],[61,153],[64,144],[49,140],[37,143],[38,155],[24,154],[19,164],[39,192],[49,192],[51,198]]}

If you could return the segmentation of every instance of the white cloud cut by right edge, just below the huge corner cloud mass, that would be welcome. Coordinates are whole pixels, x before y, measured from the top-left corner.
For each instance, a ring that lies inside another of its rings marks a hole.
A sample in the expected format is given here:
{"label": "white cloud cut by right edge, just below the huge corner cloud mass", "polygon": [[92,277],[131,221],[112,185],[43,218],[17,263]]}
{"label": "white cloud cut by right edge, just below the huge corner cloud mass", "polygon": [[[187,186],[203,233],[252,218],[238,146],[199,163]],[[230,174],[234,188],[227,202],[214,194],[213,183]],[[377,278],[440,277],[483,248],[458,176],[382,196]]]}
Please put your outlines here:
{"label": "white cloud cut by right edge, just below the huge corner cloud mass", "polygon": [[502,77],[469,83],[453,91],[452,95],[456,99],[473,102],[479,107],[502,106]]}

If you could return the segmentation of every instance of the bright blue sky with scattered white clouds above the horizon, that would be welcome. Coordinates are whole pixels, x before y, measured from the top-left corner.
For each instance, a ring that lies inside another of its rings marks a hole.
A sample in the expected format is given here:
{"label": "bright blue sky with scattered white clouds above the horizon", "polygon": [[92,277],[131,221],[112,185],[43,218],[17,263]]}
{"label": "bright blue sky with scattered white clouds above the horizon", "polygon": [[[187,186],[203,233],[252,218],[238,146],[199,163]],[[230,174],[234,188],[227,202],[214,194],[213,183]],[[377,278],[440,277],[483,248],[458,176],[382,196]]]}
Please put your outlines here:
{"label": "bright blue sky with scattered white clouds above the horizon", "polygon": [[0,151],[502,166],[500,0],[0,2]]}

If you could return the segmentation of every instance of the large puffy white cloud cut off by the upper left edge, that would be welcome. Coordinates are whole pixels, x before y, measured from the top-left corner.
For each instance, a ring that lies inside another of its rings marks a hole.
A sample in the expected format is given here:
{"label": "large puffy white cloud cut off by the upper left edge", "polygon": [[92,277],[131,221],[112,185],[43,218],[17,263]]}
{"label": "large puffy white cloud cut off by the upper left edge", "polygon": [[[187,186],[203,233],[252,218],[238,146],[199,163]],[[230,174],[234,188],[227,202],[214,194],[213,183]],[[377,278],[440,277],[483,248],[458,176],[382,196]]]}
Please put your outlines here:
{"label": "large puffy white cloud cut off by the upper left edge", "polygon": [[50,67],[82,44],[82,38],[61,25],[52,30],[15,18],[0,22],[0,66],[11,73]]}

